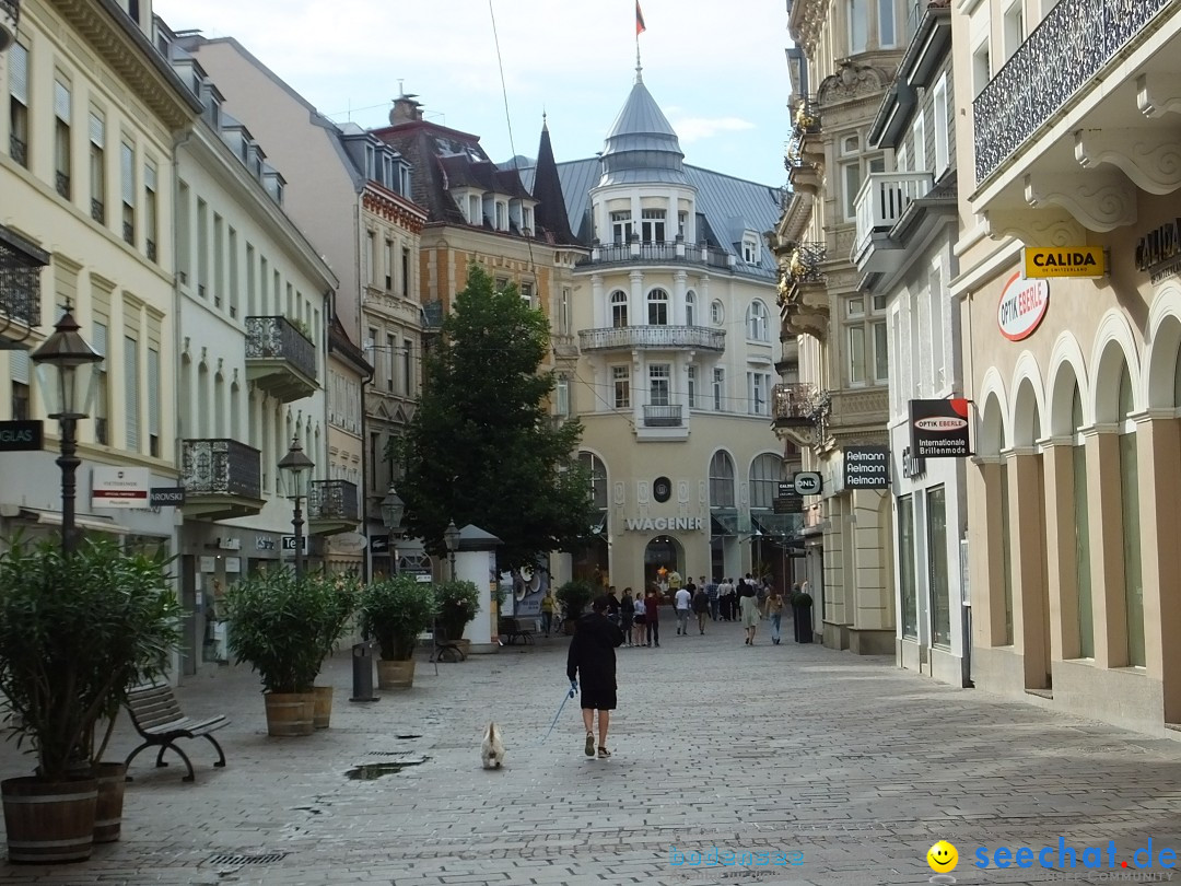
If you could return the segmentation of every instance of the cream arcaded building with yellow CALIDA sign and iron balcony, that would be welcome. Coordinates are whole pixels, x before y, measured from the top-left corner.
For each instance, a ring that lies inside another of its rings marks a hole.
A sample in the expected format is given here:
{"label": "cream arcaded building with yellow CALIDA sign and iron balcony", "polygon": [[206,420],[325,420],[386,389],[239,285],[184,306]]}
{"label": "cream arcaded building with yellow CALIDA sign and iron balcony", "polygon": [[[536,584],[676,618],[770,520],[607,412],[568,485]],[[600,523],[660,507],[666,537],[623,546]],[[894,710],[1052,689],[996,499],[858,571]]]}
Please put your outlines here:
{"label": "cream arcaded building with yellow CALIDA sign and iron balcony", "polygon": [[[954,4],[978,686],[1181,723],[1181,6]],[[971,99],[971,100],[970,100]],[[1107,252],[1023,280],[1023,248]],[[1094,272],[1094,266],[1083,267]],[[1061,273],[1056,272],[1056,273]],[[1176,727],[1173,727],[1176,728]]]}

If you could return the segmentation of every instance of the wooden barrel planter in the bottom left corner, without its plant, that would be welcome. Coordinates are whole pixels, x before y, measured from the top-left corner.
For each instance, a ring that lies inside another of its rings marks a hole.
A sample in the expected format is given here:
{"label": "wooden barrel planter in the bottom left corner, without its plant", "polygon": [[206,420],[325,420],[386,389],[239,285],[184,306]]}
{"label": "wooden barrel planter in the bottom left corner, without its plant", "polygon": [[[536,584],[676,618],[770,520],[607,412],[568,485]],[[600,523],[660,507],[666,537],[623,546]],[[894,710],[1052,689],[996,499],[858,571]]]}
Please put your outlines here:
{"label": "wooden barrel planter in the bottom left corner, without its plant", "polygon": [[35,777],[0,782],[8,861],[85,861],[94,841],[98,783],[76,778],[51,783]]}

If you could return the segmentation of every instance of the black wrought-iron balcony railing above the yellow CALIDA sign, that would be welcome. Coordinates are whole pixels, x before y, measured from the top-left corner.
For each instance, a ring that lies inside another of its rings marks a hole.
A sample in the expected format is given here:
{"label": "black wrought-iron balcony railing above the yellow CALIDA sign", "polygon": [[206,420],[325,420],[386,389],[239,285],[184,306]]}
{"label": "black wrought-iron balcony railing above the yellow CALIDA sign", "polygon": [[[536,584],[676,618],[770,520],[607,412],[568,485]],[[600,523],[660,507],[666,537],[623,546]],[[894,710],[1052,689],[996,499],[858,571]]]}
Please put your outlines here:
{"label": "black wrought-iron balcony railing above the yellow CALIDA sign", "polygon": [[1174,0],[1059,0],[972,103],[976,181],[987,178]]}

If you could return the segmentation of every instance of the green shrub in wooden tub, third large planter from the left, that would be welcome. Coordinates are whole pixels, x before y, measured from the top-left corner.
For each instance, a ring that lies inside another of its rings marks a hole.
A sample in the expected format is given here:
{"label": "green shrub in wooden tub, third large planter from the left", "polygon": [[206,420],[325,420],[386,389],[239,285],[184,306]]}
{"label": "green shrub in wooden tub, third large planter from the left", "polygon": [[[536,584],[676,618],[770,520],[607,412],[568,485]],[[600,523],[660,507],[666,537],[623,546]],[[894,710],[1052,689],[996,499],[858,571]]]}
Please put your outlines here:
{"label": "green shrub in wooden tub, third large planter from the left", "polygon": [[435,592],[415,575],[373,581],[358,604],[361,636],[377,640],[378,689],[409,688],[415,682],[415,645],[435,619]]}

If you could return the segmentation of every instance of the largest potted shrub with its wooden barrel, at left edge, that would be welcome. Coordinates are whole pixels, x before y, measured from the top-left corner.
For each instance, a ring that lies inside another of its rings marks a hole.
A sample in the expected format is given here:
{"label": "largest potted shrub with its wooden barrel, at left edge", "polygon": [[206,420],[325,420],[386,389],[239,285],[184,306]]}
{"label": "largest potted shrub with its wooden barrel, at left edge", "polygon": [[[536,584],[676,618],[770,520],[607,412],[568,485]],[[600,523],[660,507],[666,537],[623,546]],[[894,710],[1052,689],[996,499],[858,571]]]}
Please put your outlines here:
{"label": "largest potted shrub with its wooden barrel, at left edge", "polygon": [[37,755],[33,776],[0,784],[9,861],[80,861],[96,836],[118,839],[123,764],[96,763],[129,690],[165,671],[178,617],[164,561],[115,541],[71,554],[17,541],[0,555],[0,692]]}

